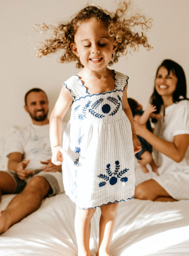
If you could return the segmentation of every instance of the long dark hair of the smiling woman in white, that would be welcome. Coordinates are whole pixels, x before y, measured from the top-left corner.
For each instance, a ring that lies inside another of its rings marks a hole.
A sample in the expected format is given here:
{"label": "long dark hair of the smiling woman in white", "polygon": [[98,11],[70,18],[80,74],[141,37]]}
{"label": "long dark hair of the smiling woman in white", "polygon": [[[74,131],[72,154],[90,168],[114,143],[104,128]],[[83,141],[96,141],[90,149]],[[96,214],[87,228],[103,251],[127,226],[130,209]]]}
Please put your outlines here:
{"label": "long dark hair of the smiling woman in white", "polygon": [[[168,75],[170,74],[170,71],[172,71],[173,74],[178,79],[176,89],[173,93],[173,102],[175,103],[181,100],[188,100],[188,98],[186,97],[186,93],[187,93],[186,77],[185,77],[183,68],[175,61],[170,59],[165,59],[157,69],[156,78],[157,78],[158,71],[161,67],[165,67],[168,70]],[[154,86],[154,92],[150,97],[150,103],[156,106],[157,111],[154,113],[158,114],[160,112],[161,105],[163,104],[163,100],[162,100],[162,97],[157,93],[155,86]],[[152,119],[152,122],[156,123],[157,120]]]}

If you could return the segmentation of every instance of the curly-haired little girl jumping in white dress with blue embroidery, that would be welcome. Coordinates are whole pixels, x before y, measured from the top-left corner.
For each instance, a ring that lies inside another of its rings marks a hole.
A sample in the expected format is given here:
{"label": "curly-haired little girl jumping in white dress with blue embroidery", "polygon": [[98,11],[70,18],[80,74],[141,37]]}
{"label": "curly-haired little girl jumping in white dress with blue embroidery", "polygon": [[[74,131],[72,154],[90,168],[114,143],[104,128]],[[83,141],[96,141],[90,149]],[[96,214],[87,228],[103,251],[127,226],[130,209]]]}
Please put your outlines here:
{"label": "curly-haired little girl jumping in white dress with blue embroidery", "polygon": [[[97,256],[111,255],[118,202],[134,196],[134,153],[141,145],[127,101],[128,76],[107,65],[117,62],[128,48],[150,49],[146,35],[132,28],[147,28],[151,21],[139,14],[126,19],[126,10],[126,3],[115,15],[89,5],[68,24],[41,25],[54,34],[39,48],[39,57],[63,49],[61,62],[76,61],[82,68],[63,83],[50,115],[52,162],[62,164],[65,192],[77,205],[78,256],[90,256],[90,221],[97,206],[101,207]],[[62,142],[62,121],[69,107]]]}

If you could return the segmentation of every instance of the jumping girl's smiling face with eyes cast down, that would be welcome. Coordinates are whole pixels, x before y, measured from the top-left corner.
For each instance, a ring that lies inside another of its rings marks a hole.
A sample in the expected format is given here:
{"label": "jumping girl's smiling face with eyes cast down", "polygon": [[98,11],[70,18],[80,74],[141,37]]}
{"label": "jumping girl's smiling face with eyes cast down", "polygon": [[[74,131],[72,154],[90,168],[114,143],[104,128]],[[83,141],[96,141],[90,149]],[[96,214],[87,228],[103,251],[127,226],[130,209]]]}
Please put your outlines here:
{"label": "jumping girl's smiling face with eyes cast down", "polygon": [[112,59],[117,49],[117,41],[108,34],[107,26],[91,18],[79,26],[72,52],[79,57],[85,68],[102,71]]}

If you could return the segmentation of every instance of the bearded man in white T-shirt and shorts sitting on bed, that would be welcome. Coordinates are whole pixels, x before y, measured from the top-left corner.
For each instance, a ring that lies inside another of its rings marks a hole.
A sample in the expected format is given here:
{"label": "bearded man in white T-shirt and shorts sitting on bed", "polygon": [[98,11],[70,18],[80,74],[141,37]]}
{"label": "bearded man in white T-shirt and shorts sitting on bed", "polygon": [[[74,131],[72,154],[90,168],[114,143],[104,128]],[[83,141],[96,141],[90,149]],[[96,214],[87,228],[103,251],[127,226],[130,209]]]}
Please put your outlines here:
{"label": "bearded man in white T-shirt and shorts sitting on bed", "polygon": [[7,143],[8,169],[0,171],[1,194],[17,194],[0,213],[0,233],[37,210],[44,197],[63,192],[61,166],[51,162],[48,99],[33,88],[25,96],[32,123],[16,131]]}

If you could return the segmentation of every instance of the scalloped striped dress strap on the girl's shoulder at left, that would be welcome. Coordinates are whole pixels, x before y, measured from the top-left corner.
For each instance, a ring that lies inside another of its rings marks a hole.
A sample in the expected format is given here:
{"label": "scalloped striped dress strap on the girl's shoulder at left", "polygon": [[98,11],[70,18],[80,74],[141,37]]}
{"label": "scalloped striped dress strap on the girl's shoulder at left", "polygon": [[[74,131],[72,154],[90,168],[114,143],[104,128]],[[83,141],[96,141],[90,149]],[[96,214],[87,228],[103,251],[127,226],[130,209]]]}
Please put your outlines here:
{"label": "scalloped striped dress strap on the girl's shoulder at left", "polygon": [[86,87],[83,85],[78,75],[71,76],[63,85],[66,86],[75,100],[86,94]]}

